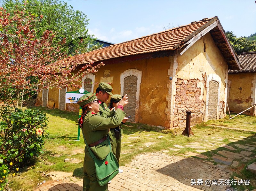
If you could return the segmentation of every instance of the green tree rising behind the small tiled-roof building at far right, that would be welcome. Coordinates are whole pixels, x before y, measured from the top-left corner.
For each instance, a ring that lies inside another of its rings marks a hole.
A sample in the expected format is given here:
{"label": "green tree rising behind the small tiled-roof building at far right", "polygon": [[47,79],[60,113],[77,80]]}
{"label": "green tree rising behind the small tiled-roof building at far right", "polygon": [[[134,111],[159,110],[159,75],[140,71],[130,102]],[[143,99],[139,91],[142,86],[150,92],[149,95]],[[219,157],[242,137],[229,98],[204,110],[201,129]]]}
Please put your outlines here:
{"label": "green tree rising behind the small tiled-roof building at far right", "polygon": [[233,31],[226,32],[228,40],[232,44],[233,48],[236,51],[236,54],[241,54],[243,52],[249,52],[256,50],[256,43],[254,41],[248,41],[247,38],[244,37],[236,37],[233,34]]}

